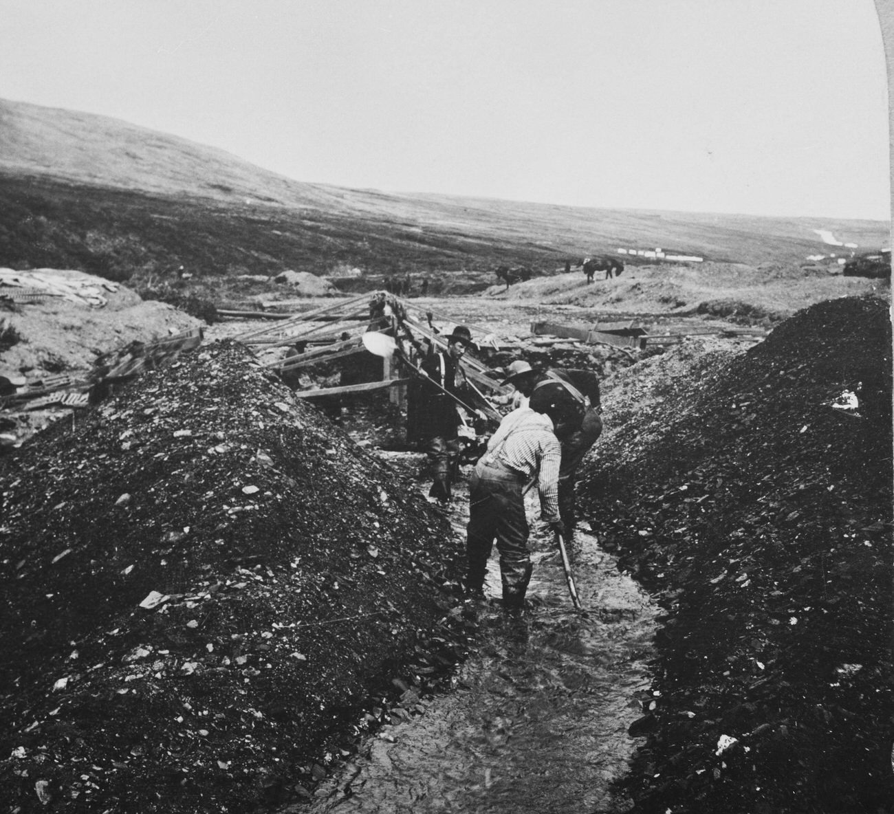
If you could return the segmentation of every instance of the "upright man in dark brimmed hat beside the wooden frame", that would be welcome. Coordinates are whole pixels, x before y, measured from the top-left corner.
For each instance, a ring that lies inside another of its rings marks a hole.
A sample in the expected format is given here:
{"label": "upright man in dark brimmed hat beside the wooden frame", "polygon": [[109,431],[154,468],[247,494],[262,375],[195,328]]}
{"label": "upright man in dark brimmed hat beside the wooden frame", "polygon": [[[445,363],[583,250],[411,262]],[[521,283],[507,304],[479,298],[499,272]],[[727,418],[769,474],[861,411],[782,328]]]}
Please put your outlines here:
{"label": "upright man in dark brimmed hat beside the wooden frame", "polygon": [[446,503],[451,499],[453,472],[460,456],[460,414],[456,399],[448,394],[462,399],[466,377],[460,359],[468,348],[477,346],[465,325],[457,325],[443,339],[447,341],[447,350],[430,343],[428,353],[419,365],[419,370],[431,383],[420,382],[417,433],[434,469],[434,483],[428,496]]}

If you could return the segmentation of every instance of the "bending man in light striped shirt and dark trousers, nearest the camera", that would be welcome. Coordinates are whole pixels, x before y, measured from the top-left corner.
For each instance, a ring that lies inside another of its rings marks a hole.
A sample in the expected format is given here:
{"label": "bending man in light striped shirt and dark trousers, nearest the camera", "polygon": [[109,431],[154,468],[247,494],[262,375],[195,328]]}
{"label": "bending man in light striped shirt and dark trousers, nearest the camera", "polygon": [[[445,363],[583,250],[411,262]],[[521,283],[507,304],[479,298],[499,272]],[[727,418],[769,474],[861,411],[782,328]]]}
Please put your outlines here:
{"label": "bending man in light striped shirt and dark trousers, nearest the camera", "polygon": [[493,542],[500,552],[504,608],[524,606],[531,579],[523,490],[536,478],[541,514],[561,532],[559,519],[559,466],[561,447],[550,415],[519,407],[503,418],[488,441],[487,452],[469,479],[470,496],[466,552],[466,588],[480,593]]}

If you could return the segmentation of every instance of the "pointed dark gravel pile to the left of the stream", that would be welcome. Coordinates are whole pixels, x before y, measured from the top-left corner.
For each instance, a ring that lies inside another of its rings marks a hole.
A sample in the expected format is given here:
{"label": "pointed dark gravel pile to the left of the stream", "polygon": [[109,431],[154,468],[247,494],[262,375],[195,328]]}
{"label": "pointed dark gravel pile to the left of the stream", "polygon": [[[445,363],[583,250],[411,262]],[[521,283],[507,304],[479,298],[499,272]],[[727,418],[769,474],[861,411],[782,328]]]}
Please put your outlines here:
{"label": "pointed dark gravel pile to the left of the stream", "polygon": [[3,482],[4,810],[293,799],[458,657],[443,517],[238,345],[55,424]]}

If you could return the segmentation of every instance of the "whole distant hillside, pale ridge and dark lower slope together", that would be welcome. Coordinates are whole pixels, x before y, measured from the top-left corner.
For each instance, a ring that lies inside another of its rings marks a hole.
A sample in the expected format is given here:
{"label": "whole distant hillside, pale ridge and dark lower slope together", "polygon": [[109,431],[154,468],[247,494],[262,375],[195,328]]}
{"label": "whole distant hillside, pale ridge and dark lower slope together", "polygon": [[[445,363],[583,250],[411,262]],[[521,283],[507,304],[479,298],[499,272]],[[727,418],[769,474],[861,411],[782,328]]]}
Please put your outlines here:
{"label": "whole distant hillside, pale ridge and dark lower slope together", "polygon": [[[302,183],[105,116],[0,100],[0,265],[126,279],[201,273],[552,270],[617,248],[799,264],[819,231],[862,249],[889,224],[552,206]],[[838,250],[838,249],[835,249]]]}

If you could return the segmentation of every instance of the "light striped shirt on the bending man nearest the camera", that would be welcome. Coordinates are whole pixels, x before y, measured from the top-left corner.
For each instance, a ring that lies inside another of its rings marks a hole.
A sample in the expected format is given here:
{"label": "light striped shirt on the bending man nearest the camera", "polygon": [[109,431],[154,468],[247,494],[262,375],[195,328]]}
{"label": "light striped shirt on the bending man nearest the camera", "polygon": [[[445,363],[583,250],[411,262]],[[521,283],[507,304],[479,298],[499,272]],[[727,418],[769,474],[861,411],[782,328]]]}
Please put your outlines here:
{"label": "light striped shirt on the bending man nearest the camera", "polygon": [[561,446],[549,415],[530,407],[512,410],[487,442],[487,454],[528,479],[536,476],[544,520],[559,518]]}

